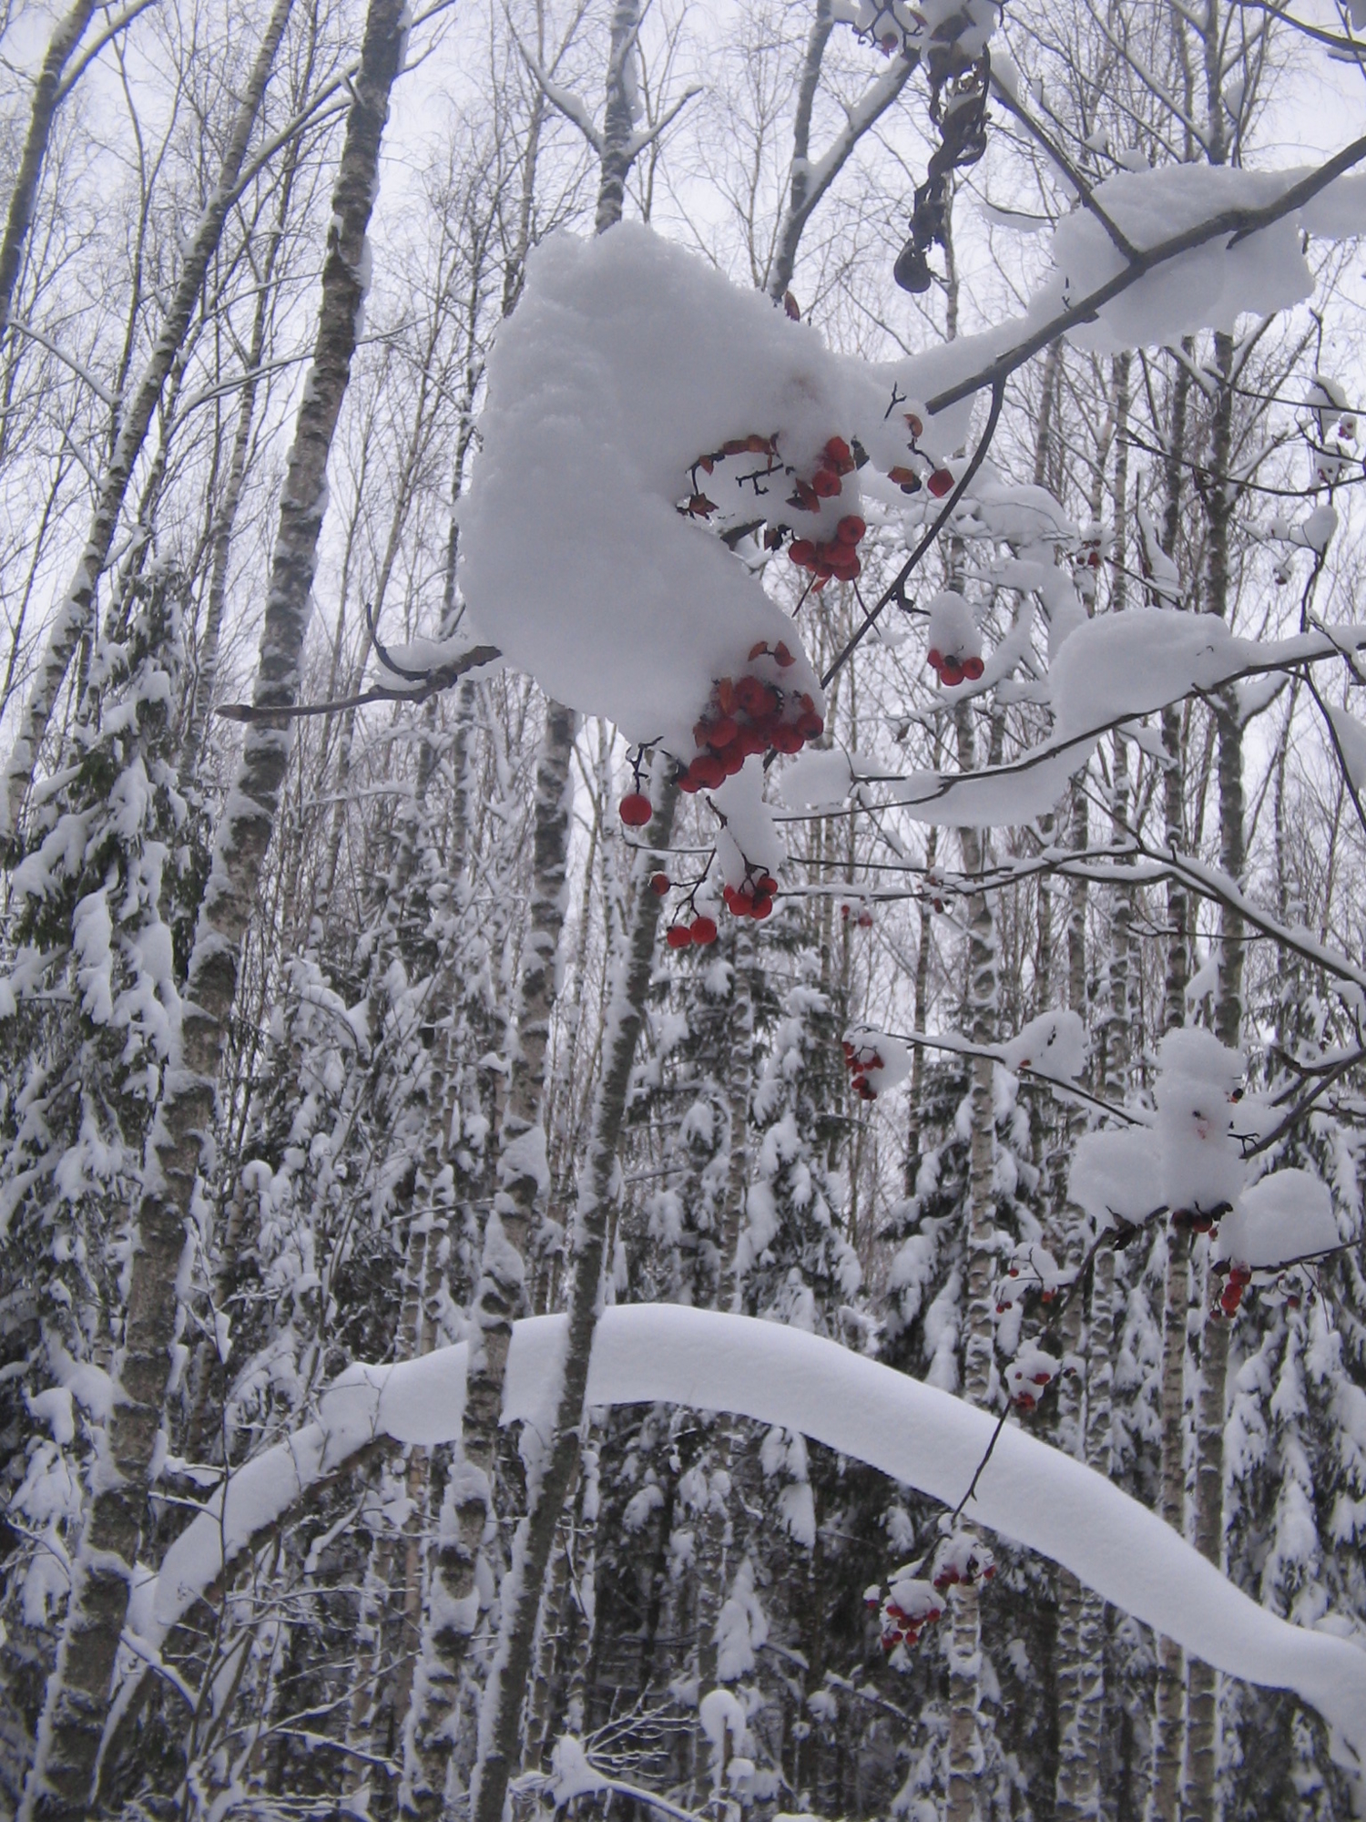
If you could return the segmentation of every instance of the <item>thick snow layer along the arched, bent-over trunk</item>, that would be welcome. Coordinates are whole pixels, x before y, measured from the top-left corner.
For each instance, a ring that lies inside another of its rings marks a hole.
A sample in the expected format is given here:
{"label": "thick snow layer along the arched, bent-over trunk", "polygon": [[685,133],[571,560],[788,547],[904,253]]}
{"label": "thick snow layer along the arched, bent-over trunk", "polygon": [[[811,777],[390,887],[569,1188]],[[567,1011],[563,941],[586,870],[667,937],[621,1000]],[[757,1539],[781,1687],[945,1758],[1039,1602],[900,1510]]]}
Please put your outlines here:
{"label": "thick snow layer along the arched, bent-over trunk", "polygon": [[[503,1421],[546,1423],[566,1319],[514,1328]],[[133,1594],[131,1629],[149,1645],[259,1530],[375,1436],[433,1445],[461,1434],[464,1343],[397,1366],[352,1366],[321,1399],[319,1423],[237,1470]],[[621,1305],[603,1312],[590,1405],[676,1403],[781,1425],[956,1505],[993,1438],[989,1410],[781,1323]],[[1071,1569],[1087,1587],[1231,1676],[1295,1689],[1355,1751],[1366,1751],[1366,1653],[1259,1607],[1157,1514],[1104,1476],[1007,1425],[971,1516]]]}

